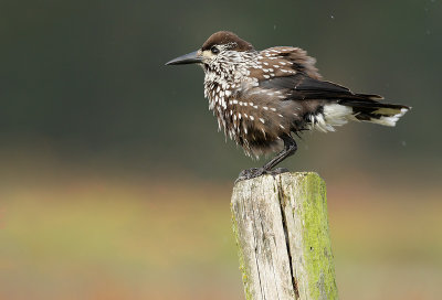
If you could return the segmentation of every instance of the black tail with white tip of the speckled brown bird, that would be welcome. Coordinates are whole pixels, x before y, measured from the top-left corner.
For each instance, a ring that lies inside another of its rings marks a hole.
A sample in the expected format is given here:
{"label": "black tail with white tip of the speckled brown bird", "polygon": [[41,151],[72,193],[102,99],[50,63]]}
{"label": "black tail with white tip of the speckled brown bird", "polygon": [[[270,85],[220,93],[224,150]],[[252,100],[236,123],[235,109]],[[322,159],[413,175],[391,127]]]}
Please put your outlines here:
{"label": "black tail with white tip of the speckled brown bird", "polygon": [[377,95],[356,94],[352,99],[343,99],[340,105],[352,109],[352,117],[360,121],[394,126],[411,107],[400,104],[382,104]]}

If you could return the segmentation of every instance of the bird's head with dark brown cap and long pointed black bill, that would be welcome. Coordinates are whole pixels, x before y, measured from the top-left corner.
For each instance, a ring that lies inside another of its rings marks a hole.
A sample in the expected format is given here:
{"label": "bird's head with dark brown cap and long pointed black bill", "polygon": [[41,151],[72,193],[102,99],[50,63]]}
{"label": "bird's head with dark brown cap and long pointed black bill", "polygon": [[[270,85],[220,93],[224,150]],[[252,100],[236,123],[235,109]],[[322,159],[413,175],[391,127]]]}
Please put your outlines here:
{"label": "bird's head with dark brown cap and long pointed black bill", "polygon": [[200,64],[207,71],[221,63],[235,63],[241,52],[254,51],[252,44],[229,31],[213,33],[202,46],[189,54],[179,56],[166,65]]}

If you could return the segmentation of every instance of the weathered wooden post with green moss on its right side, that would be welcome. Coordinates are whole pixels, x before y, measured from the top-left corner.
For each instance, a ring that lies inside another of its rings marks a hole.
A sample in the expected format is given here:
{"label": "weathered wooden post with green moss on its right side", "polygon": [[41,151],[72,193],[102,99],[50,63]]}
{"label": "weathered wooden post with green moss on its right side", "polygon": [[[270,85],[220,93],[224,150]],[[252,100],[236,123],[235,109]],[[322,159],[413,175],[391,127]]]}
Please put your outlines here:
{"label": "weathered wooden post with green moss on its right side", "polygon": [[338,299],[318,174],[241,181],[231,210],[248,300]]}

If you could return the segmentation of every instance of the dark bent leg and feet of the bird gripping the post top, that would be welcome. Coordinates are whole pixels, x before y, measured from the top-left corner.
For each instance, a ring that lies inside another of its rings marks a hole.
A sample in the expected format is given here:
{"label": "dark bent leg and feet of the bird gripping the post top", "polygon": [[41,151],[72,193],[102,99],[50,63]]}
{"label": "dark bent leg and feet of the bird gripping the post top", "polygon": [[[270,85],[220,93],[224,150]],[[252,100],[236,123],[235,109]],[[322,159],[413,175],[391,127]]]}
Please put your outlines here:
{"label": "dark bent leg and feet of the bird gripping the post top", "polygon": [[239,182],[241,180],[257,178],[261,176],[262,174],[276,175],[284,172],[288,172],[288,170],[285,168],[278,168],[272,171],[272,169],[275,168],[280,162],[285,160],[290,156],[293,156],[297,149],[296,141],[290,135],[283,136],[282,139],[284,141],[284,149],[280,153],[277,153],[271,161],[269,161],[262,168],[252,168],[242,171],[235,182]]}

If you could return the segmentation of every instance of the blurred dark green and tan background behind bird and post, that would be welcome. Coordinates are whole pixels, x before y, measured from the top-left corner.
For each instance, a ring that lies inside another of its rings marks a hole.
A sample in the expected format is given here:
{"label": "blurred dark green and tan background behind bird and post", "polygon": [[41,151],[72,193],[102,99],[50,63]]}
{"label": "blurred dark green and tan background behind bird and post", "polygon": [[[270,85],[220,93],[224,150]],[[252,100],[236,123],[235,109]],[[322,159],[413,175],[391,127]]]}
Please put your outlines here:
{"label": "blurred dark green and tan background behind bird and post", "polygon": [[442,293],[442,2],[0,1],[0,299],[243,299],[229,202],[262,164],[217,132],[198,66],[219,30],[413,107],[304,135],[341,299]]}

